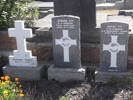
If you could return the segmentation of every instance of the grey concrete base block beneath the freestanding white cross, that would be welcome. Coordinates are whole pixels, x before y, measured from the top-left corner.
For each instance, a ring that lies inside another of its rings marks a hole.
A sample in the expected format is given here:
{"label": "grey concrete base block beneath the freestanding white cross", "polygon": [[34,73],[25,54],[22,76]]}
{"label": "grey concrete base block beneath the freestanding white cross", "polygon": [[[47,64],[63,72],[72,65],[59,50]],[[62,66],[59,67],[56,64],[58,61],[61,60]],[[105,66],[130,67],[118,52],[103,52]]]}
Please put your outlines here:
{"label": "grey concrete base block beneath the freestanding white cross", "polygon": [[11,78],[19,78],[20,80],[40,80],[46,77],[47,71],[45,66],[38,65],[37,67],[13,67],[6,65],[3,67],[3,73],[5,76],[11,76]]}

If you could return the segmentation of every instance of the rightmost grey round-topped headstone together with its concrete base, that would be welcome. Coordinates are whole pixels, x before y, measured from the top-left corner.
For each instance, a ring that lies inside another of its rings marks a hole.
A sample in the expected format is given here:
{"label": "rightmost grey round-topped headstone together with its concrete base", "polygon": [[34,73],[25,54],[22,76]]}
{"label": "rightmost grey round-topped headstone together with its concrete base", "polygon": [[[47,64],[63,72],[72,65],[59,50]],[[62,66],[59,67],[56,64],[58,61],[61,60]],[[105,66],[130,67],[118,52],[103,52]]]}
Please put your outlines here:
{"label": "rightmost grey round-topped headstone together with its concrete base", "polygon": [[132,76],[132,71],[127,70],[128,31],[129,25],[123,22],[101,25],[100,68],[96,71],[96,82]]}

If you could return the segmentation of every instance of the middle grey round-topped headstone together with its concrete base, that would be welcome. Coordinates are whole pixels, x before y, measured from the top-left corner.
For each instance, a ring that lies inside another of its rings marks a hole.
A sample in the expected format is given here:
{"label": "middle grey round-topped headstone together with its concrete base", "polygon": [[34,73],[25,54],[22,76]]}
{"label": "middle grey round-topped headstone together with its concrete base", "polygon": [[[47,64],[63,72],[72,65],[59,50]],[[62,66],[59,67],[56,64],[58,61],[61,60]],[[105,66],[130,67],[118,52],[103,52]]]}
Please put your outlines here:
{"label": "middle grey round-topped headstone together with its concrete base", "polygon": [[84,80],[81,66],[80,20],[64,15],[52,19],[54,66],[48,69],[48,78],[59,81]]}

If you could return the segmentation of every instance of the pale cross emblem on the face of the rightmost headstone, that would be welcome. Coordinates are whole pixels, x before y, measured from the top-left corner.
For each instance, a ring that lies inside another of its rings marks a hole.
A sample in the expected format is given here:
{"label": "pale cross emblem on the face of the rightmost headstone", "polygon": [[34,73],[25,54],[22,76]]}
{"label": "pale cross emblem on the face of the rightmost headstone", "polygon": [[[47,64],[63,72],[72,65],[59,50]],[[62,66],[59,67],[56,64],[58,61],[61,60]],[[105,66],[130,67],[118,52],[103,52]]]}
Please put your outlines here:
{"label": "pale cross emblem on the face of the rightmost headstone", "polygon": [[117,53],[125,51],[125,45],[120,45],[118,42],[118,36],[111,36],[111,42],[109,45],[103,44],[103,51],[109,51],[111,53],[110,67],[116,68],[117,66]]}

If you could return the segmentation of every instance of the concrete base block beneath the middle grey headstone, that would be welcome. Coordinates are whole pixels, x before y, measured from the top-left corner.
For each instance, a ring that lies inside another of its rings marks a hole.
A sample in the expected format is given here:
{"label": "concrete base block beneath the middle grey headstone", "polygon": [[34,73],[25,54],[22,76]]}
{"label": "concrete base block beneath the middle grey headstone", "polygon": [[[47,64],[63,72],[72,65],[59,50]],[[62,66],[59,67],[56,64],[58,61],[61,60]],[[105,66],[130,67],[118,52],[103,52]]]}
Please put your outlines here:
{"label": "concrete base block beneath the middle grey headstone", "polygon": [[55,68],[53,65],[48,68],[48,79],[55,79],[60,82],[84,81],[85,69]]}

